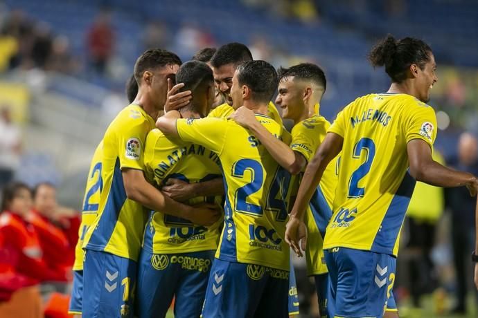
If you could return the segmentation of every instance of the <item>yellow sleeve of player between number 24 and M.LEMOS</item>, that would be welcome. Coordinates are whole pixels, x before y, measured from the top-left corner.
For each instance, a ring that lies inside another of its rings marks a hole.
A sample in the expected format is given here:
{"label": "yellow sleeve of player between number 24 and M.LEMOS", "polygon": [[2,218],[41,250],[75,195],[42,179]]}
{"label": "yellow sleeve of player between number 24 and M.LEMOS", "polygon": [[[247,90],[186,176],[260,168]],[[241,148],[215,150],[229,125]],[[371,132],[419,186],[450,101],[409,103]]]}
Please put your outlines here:
{"label": "yellow sleeve of player between number 24 and M.LEMOS", "polygon": [[307,162],[310,162],[315,151],[326,138],[326,125],[308,123],[307,120],[296,124],[292,129],[292,143],[290,149],[301,153]]}

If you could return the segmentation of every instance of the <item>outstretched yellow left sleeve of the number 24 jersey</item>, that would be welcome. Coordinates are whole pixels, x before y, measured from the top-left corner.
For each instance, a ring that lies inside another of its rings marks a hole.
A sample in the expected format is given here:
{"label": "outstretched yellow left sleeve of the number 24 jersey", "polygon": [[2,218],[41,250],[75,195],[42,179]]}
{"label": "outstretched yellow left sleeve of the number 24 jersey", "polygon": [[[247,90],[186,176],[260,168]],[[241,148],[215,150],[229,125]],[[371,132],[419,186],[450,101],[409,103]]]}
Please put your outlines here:
{"label": "outstretched yellow left sleeve of the number 24 jersey", "polygon": [[176,120],[179,138],[200,144],[218,154],[222,153],[230,127],[225,118],[182,118]]}

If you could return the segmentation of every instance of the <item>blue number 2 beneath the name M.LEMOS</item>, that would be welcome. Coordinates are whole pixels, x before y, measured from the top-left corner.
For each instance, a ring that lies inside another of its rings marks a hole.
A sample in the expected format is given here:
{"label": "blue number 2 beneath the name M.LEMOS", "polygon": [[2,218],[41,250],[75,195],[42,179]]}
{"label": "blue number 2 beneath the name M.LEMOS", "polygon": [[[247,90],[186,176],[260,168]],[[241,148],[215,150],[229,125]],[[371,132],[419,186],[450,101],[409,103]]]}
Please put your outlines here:
{"label": "blue number 2 beneath the name M.LEMOS", "polygon": [[373,157],[375,157],[375,143],[370,138],[362,138],[353,148],[354,159],[362,158],[362,151],[365,152],[365,162],[353,171],[351,179],[348,181],[348,198],[362,198],[365,194],[365,188],[358,187],[358,183],[366,174],[369,173]]}

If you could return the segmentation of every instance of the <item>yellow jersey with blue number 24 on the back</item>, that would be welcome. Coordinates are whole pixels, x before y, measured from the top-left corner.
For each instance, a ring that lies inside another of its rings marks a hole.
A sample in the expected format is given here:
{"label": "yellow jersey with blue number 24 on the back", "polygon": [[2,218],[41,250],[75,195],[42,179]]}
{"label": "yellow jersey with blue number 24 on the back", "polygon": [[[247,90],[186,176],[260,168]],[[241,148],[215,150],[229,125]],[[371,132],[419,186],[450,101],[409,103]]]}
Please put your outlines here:
{"label": "yellow jersey with blue number 24 on the back", "polygon": [[[260,114],[256,118],[282,138],[284,129],[272,118]],[[179,119],[176,127],[182,140],[211,149],[221,161],[226,202],[216,258],[289,270],[289,246],[284,241],[287,189],[282,189],[276,176],[279,166],[267,149],[226,118]]]}

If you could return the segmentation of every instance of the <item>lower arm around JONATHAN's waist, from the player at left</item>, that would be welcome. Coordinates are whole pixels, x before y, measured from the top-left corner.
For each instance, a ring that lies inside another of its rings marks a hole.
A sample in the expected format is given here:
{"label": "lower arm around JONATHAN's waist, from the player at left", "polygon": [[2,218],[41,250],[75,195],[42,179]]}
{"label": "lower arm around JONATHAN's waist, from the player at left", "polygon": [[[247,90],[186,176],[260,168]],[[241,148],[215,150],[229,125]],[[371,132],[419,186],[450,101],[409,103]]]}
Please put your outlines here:
{"label": "lower arm around JONATHAN's waist, from the player at left", "polygon": [[186,218],[197,225],[212,225],[220,217],[220,213],[217,209],[212,209],[212,205],[190,207],[163,195],[146,181],[141,170],[123,169],[122,174],[127,198],[149,209]]}

